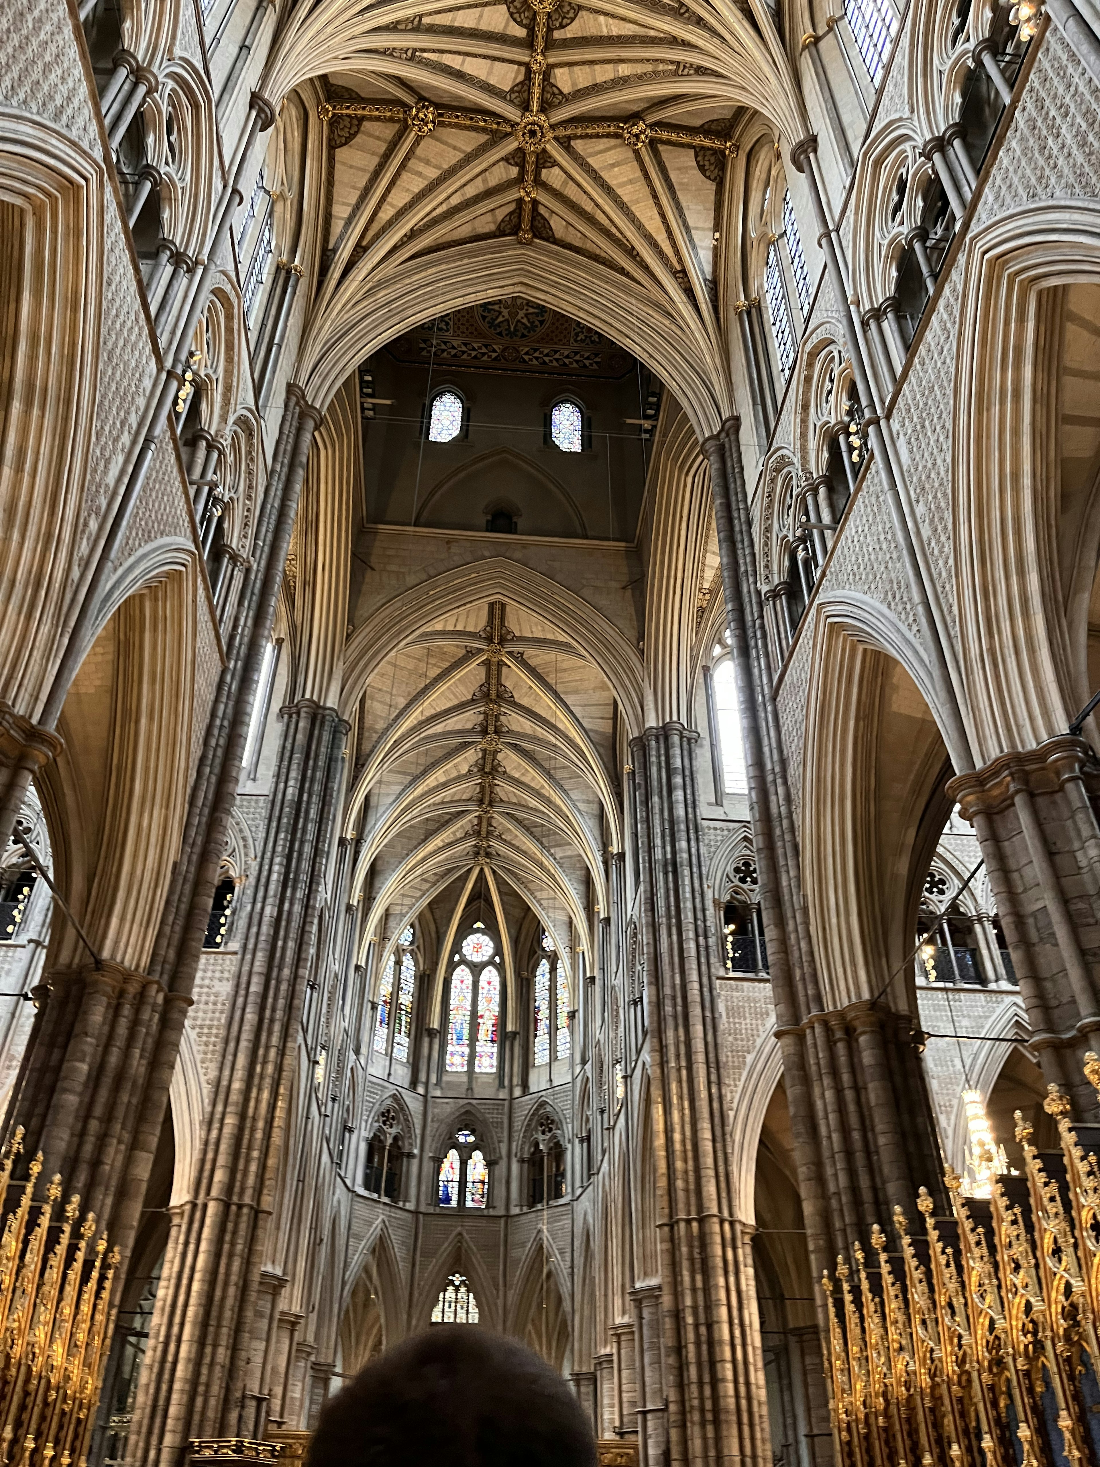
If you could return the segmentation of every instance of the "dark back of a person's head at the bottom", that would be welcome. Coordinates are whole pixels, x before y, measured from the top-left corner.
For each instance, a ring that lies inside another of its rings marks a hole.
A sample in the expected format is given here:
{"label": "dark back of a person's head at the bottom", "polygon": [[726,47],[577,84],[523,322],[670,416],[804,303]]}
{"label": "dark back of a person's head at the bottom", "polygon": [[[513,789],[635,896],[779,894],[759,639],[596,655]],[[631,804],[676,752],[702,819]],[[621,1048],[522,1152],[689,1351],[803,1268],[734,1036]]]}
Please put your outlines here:
{"label": "dark back of a person's head at the bottom", "polygon": [[309,1467],[594,1467],[566,1382],[515,1339],[433,1325],[367,1366],[321,1411]]}

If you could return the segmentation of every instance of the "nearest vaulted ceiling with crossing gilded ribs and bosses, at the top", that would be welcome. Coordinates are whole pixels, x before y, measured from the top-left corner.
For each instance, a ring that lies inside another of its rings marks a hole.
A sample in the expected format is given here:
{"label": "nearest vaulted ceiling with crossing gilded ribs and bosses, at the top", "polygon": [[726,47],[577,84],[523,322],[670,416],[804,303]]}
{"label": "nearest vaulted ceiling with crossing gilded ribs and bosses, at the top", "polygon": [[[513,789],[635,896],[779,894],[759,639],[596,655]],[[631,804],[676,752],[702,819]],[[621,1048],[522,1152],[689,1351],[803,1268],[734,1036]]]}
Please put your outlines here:
{"label": "nearest vaulted ceiling with crossing gilded ribs and bosses, at the top", "polygon": [[[736,133],[755,111],[789,139],[807,131],[763,0],[323,0],[290,16],[267,85],[307,79],[326,98],[318,356],[395,292],[411,302],[400,329],[428,318],[443,302],[414,305],[417,282],[462,276],[475,290],[483,261],[496,271],[487,296],[532,295],[512,244],[537,258],[538,279],[571,280],[572,301],[544,304],[678,386],[638,339],[635,318],[648,318],[659,339],[681,337],[711,398],[727,396],[720,280]],[[612,292],[617,321],[597,310]],[[601,298],[588,312],[585,293]],[[364,339],[361,355],[383,343]],[[678,395],[691,411],[691,393]]]}

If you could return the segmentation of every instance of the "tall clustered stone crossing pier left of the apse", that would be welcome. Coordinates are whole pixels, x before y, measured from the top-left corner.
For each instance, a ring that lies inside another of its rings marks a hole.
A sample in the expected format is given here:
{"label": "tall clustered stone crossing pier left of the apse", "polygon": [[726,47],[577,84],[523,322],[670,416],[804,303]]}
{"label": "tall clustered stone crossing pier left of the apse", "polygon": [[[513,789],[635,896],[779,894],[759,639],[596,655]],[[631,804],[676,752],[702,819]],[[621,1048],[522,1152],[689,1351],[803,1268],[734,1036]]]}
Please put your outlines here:
{"label": "tall clustered stone crossing pier left of the apse", "polygon": [[348,734],[311,700],[283,719],[223,1064],[192,1197],[172,1219],[141,1376],[131,1451],[144,1463],[175,1464],[189,1439],[264,1426],[242,1417],[243,1380]]}

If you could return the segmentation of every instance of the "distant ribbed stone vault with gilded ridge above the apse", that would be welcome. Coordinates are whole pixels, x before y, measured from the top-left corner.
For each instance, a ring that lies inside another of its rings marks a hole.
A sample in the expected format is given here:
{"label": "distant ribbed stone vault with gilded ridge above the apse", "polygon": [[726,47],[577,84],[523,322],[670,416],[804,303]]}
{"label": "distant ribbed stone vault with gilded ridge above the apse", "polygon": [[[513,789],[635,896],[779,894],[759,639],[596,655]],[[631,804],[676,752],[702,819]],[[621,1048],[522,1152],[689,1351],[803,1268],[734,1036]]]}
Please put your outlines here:
{"label": "distant ribbed stone vault with gilded ridge above the apse", "polygon": [[465,899],[484,870],[560,952],[591,952],[603,854],[622,845],[620,723],[590,650],[519,604],[477,600],[409,629],[358,707],[348,833],[364,942],[452,883]]}

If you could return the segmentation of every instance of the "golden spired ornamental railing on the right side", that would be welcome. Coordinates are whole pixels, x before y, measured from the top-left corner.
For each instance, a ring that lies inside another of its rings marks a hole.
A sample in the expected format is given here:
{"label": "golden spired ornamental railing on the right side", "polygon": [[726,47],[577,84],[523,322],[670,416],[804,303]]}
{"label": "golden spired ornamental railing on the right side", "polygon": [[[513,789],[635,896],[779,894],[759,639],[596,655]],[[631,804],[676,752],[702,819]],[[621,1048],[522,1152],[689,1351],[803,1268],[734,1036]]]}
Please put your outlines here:
{"label": "golden spired ornamental railing on the right side", "polygon": [[[1100,1093],[1100,1059],[1085,1056]],[[1075,1130],[1049,1086],[1060,1150],[1038,1152],[1016,1111],[1022,1175],[965,1197],[947,1171],[950,1218],[909,1231],[901,1256],[855,1250],[823,1279],[826,1379],[839,1467],[1100,1467],[1100,1130]],[[986,1159],[989,1160],[989,1159]]]}

